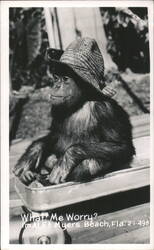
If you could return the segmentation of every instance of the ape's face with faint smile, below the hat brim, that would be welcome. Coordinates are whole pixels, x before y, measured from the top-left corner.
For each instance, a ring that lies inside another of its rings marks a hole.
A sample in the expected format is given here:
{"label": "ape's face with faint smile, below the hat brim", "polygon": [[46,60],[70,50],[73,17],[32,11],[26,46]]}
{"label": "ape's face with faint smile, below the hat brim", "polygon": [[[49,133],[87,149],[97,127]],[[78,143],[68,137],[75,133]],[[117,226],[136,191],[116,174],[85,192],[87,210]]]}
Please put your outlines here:
{"label": "ape's face with faint smile, below the hat brim", "polygon": [[71,76],[52,74],[49,97],[53,106],[71,107],[80,101],[82,91]]}

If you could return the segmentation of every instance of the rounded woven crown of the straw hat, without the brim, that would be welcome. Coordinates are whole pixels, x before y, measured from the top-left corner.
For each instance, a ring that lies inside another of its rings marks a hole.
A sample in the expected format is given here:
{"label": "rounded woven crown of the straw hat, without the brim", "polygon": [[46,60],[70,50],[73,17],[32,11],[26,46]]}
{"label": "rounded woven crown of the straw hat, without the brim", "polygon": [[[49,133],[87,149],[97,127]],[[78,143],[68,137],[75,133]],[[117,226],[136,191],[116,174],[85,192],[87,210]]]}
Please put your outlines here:
{"label": "rounded woven crown of the straw hat, without the brim", "polygon": [[85,77],[89,75],[91,84],[97,89],[104,87],[104,60],[95,39],[86,37],[73,41],[62,54],[60,61],[78,70],[82,78],[84,72]]}

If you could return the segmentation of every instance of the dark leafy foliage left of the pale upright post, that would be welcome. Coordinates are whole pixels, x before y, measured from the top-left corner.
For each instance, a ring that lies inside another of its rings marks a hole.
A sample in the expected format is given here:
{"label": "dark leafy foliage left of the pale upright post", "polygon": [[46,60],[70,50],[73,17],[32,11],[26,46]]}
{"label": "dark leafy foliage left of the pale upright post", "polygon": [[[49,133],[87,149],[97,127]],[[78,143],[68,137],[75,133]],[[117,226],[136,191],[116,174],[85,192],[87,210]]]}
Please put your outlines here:
{"label": "dark leafy foliage left of the pale upright post", "polygon": [[10,8],[10,73],[12,87],[39,88],[46,75],[49,47],[43,8]]}

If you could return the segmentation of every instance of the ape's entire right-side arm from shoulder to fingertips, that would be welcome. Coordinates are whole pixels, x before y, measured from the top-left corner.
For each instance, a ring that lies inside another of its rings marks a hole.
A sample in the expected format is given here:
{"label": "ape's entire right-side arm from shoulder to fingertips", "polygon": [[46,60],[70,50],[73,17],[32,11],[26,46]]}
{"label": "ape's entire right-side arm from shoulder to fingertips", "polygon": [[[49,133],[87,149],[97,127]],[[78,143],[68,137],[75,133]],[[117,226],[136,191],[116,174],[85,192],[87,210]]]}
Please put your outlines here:
{"label": "ape's entire right-side arm from shoulder to fingertips", "polygon": [[51,183],[64,182],[73,168],[85,159],[102,159],[102,166],[106,163],[108,166],[125,164],[131,160],[135,151],[126,112],[113,100],[96,103],[93,112],[98,122],[100,142],[69,147],[51,172]]}

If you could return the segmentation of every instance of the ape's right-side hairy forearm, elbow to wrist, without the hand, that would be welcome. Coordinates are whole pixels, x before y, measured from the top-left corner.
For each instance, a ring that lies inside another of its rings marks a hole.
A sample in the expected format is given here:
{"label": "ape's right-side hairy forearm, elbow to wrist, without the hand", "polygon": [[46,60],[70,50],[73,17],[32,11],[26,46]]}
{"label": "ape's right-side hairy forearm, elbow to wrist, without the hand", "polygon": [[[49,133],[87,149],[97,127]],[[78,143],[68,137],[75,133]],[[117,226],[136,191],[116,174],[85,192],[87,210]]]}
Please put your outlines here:
{"label": "ape's right-side hairy forearm, elbow to wrist, without the hand", "polygon": [[63,164],[68,168],[73,168],[85,159],[102,159],[105,162],[126,163],[134,154],[132,145],[126,143],[102,142],[102,143],[83,143],[71,146],[67,149]]}

